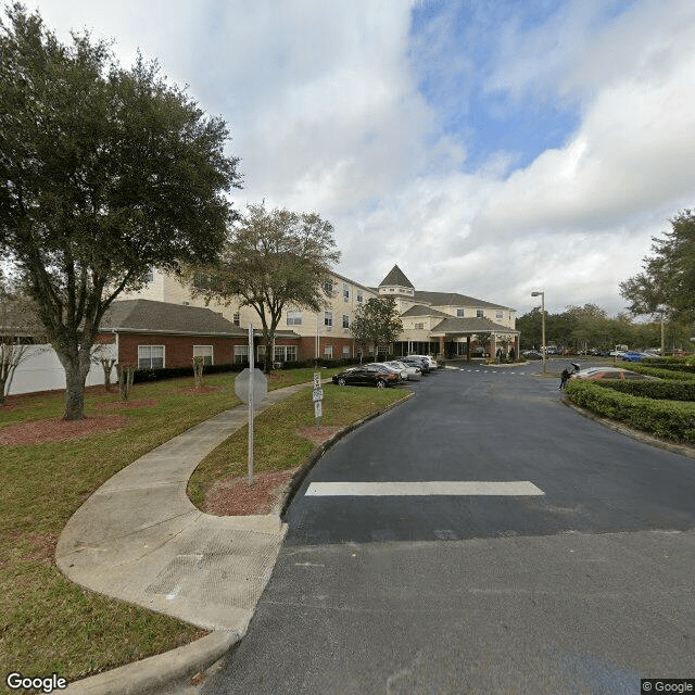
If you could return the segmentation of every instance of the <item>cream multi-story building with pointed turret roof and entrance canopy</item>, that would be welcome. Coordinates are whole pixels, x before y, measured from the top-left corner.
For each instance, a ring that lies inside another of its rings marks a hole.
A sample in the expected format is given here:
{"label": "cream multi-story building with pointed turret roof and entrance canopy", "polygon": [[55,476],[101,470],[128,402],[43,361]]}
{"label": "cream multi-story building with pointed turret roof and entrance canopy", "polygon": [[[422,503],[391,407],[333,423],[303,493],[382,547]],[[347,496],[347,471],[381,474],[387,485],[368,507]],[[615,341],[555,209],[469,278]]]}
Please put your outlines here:
{"label": "cream multi-story building with pointed turret roof and entrance canopy", "polygon": [[[351,326],[357,309],[372,298],[392,296],[401,314],[403,332],[394,344],[396,355],[432,354],[451,357],[482,350],[495,354],[514,348],[518,354],[519,332],[515,330],[515,309],[455,292],[416,290],[397,265],[378,287],[369,287],[332,273],[326,281],[325,306],[315,313],[300,306],[286,306],[275,341],[275,361],[292,362],[313,357],[352,358],[358,345]],[[175,276],[154,270],[148,285],[123,299],[147,299],[177,305],[205,306],[190,288]],[[255,311],[239,303],[212,302],[214,312],[240,328],[261,321]],[[485,336],[489,340],[481,340]],[[248,357],[243,345],[233,348],[233,361]],[[262,350],[260,348],[260,356]],[[216,359],[223,362],[223,359]]]}

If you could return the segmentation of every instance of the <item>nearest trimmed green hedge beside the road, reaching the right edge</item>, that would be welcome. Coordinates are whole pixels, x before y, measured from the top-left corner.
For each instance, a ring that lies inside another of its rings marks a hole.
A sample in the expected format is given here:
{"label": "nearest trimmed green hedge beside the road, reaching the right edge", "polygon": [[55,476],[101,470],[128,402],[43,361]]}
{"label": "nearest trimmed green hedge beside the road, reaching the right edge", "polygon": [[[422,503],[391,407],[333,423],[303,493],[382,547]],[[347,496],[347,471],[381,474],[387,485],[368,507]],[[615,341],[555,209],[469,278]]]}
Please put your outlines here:
{"label": "nearest trimmed green hedge beside the road, reaching the right edge", "polygon": [[567,395],[577,405],[603,417],[626,422],[657,437],[695,444],[693,403],[655,401],[579,379],[572,379],[567,384]]}

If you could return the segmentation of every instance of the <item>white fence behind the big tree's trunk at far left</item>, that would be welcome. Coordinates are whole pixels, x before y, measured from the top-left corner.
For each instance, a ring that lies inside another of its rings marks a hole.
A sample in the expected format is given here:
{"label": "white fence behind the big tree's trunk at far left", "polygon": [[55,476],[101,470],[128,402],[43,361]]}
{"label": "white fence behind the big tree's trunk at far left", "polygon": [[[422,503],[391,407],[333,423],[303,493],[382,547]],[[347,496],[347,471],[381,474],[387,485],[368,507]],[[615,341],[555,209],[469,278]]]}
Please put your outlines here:
{"label": "white fence behind the big tree's trunk at far left", "polygon": [[[94,348],[94,350],[99,350],[100,357],[116,357],[115,345],[101,345]],[[114,368],[111,375],[112,383],[116,379],[117,376]],[[103,367],[99,362],[97,364],[92,363],[85,386],[93,387],[103,384]],[[55,351],[50,345],[29,345],[24,359],[14,371],[7,395],[64,388],[65,369]]]}

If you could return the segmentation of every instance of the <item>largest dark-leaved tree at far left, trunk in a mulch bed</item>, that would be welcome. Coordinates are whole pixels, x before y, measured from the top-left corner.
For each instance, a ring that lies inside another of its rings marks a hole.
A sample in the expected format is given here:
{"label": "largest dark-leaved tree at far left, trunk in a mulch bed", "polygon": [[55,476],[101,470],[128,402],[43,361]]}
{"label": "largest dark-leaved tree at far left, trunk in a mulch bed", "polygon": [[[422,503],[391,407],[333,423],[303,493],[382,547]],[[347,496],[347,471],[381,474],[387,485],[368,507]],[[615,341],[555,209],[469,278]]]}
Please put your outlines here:
{"label": "largest dark-leaved tree at far left, trunk in a mulch bed", "polygon": [[155,63],[122,68],[88,34],[59,42],[18,3],[0,20],[0,252],[17,268],[84,417],[90,350],[109,305],[151,267],[212,261],[238,160]]}

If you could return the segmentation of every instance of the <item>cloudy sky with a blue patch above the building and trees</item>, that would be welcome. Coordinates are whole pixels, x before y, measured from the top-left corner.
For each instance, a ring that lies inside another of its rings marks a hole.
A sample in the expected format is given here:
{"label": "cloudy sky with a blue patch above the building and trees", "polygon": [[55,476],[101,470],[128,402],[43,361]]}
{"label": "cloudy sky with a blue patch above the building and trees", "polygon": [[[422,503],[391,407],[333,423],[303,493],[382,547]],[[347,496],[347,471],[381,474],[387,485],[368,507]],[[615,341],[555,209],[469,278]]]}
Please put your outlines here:
{"label": "cloudy sky with a blue patch above the building and trees", "polygon": [[596,303],[695,206],[692,0],[26,0],[230,127],[243,211],[315,211],[339,273],[523,314]]}

